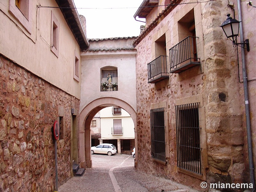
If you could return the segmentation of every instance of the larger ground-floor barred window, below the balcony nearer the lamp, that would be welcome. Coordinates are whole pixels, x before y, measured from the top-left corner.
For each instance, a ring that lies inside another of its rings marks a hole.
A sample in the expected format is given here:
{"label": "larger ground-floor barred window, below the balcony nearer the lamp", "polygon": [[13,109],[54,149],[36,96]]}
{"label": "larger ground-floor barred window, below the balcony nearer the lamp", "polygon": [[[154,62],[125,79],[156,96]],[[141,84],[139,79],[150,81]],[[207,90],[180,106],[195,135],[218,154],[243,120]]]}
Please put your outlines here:
{"label": "larger ground-floor barred window, below the balcony nearer the lamp", "polygon": [[201,174],[199,103],[177,105],[177,166]]}

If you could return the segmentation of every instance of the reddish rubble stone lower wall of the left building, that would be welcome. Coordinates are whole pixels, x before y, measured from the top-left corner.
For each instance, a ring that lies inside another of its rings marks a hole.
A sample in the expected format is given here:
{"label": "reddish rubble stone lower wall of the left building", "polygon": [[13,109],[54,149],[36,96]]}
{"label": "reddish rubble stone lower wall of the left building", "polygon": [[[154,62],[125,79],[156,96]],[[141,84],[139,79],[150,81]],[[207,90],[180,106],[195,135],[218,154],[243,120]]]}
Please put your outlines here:
{"label": "reddish rubble stone lower wall of the left building", "polygon": [[60,185],[71,176],[71,106],[79,111],[79,100],[2,55],[0,79],[0,191],[53,191],[53,122],[63,116],[64,138],[57,141]]}

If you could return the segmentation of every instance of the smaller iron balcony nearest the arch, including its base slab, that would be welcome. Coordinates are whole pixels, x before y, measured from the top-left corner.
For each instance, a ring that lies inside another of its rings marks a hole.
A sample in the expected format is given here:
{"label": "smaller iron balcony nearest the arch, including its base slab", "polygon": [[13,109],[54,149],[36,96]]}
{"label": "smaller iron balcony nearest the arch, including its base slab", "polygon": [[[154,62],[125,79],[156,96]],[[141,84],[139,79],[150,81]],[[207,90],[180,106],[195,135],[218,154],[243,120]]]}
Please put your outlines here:
{"label": "smaller iron balcony nearest the arch, including its base slab", "polygon": [[148,83],[156,83],[169,78],[167,56],[161,55],[148,63]]}

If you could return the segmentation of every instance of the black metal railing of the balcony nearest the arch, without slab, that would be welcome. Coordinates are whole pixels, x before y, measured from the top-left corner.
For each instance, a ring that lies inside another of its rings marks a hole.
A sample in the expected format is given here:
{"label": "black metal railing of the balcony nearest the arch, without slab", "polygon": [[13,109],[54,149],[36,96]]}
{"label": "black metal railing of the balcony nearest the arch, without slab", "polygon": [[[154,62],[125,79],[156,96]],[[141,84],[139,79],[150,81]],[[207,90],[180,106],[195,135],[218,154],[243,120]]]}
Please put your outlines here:
{"label": "black metal railing of the balcony nearest the arch, without slab", "polygon": [[167,70],[167,56],[160,55],[150,63],[148,63],[148,81],[161,76],[162,74],[166,75]]}

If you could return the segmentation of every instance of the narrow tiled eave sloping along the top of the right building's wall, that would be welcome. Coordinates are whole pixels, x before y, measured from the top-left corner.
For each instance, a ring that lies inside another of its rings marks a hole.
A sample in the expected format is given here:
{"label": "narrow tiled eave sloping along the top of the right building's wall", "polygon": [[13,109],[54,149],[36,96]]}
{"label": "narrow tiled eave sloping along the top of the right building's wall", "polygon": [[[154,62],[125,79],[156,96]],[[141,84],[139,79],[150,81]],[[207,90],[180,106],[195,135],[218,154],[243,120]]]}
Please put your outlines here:
{"label": "narrow tiled eave sloping along the top of the right building's wall", "polygon": [[150,31],[152,31],[157,25],[158,23],[163,20],[164,17],[166,17],[166,15],[168,15],[179,3],[181,2],[181,0],[174,0],[171,2],[171,4],[169,4],[167,7],[165,7],[165,9],[158,14],[158,16],[156,17],[156,19],[154,21],[152,21],[148,27],[146,27],[141,33],[140,35],[137,37],[137,39],[133,42],[134,46],[136,46],[137,44],[140,43],[140,41],[146,36],[148,35],[148,33]]}

